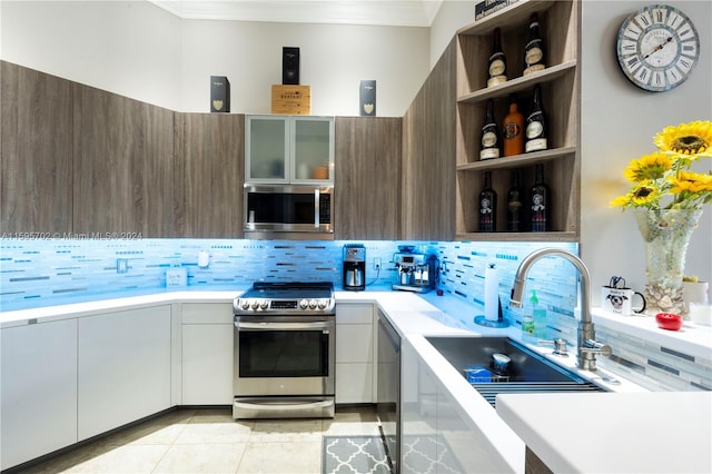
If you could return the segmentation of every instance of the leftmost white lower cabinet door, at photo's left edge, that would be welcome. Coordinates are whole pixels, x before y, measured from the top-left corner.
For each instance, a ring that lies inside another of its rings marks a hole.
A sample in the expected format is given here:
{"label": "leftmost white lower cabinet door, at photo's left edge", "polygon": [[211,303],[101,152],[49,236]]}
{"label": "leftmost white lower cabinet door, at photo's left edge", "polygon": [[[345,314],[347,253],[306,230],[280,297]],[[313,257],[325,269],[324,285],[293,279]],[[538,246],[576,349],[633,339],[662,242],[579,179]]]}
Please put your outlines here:
{"label": "leftmost white lower cabinet door, at photo's left edge", "polygon": [[0,468],[77,442],[77,320],[0,330]]}

